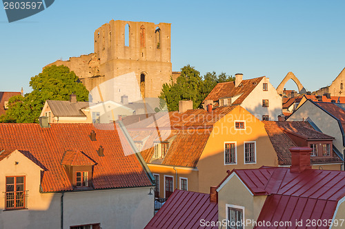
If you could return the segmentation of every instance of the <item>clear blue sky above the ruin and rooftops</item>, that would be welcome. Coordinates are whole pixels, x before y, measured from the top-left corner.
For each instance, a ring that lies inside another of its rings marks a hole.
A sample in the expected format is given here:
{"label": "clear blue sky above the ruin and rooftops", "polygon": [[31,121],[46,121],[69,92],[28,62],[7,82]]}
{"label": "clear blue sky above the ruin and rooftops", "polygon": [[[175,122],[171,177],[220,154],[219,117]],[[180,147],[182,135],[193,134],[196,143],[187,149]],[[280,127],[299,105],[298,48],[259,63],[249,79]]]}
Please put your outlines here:
{"label": "clear blue sky above the ruin and rooftops", "polygon": [[[277,87],[293,72],[308,91],[345,67],[345,1],[59,0],[8,23],[0,8],[0,91],[30,92],[30,78],[57,59],[90,54],[93,33],[110,20],[171,23],[172,71],[185,65]],[[286,89],[296,89],[292,80]]]}

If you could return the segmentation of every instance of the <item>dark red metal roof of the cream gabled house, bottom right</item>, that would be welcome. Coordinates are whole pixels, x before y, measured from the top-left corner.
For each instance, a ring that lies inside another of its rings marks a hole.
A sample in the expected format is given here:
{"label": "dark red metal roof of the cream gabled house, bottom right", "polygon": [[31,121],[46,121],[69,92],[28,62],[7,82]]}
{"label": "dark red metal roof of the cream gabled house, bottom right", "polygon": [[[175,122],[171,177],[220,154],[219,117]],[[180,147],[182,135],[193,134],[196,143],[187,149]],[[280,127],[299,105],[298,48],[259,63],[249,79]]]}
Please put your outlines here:
{"label": "dark red metal roof of the cream gabled house, bottom right", "polygon": [[227,177],[232,173],[254,195],[268,195],[257,221],[291,221],[289,228],[297,228],[295,221],[302,219],[333,219],[338,201],[345,196],[344,171],[306,169],[291,173],[290,168],[262,167],[233,170]]}

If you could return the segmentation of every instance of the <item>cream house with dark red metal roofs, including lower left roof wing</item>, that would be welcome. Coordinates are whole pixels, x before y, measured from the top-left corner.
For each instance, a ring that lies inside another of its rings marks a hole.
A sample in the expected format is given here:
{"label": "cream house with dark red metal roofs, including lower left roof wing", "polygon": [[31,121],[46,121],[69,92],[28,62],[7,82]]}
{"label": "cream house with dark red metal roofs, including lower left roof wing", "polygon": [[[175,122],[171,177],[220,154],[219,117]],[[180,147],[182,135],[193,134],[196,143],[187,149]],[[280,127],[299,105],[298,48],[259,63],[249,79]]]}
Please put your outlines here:
{"label": "cream house with dark red metal roofs, including lower left roof wing", "polygon": [[290,168],[227,171],[210,194],[175,190],[146,229],[344,228],[345,172],[311,168],[308,147],[290,154]]}

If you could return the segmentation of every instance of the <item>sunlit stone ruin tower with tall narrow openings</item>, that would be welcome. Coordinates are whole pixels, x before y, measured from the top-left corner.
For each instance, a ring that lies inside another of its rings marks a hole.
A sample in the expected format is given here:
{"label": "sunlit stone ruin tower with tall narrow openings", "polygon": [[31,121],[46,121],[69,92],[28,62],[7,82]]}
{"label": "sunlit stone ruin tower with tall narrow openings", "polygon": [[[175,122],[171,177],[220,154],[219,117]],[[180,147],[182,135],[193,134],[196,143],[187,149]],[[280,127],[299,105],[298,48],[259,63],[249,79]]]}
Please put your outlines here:
{"label": "sunlit stone ruin tower with tall narrow openings", "polygon": [[[157,97],[172,72],[170,23],[110,21],[95,31],[95,52],[50,65],[66,65],[90,91],[111,78],[135,72],[141,95]],[[49,66],[49,65],[47,65]]]}

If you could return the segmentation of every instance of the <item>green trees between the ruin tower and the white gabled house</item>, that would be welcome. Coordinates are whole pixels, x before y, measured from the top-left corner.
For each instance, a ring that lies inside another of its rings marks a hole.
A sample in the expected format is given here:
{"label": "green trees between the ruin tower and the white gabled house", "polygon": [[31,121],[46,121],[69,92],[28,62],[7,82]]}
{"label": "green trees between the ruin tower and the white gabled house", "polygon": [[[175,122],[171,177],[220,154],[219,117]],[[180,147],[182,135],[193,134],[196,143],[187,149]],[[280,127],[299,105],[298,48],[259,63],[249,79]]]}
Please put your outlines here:
{"label": "green trees between the ruin tower and the white gabled house", "polygon": [[181,76],[176,83],[165,83],[162,87],[159,98],[166,101],[169,111],[179,109],[179,100],[193,100],[193,108],[201,107],[201,102],[212,91],[217,83],[224,83],[235,80],[234,77],[225,73],[217,75],[215,72],[207,72],[204,78],[194,68],[187,65],[181,68]]}

